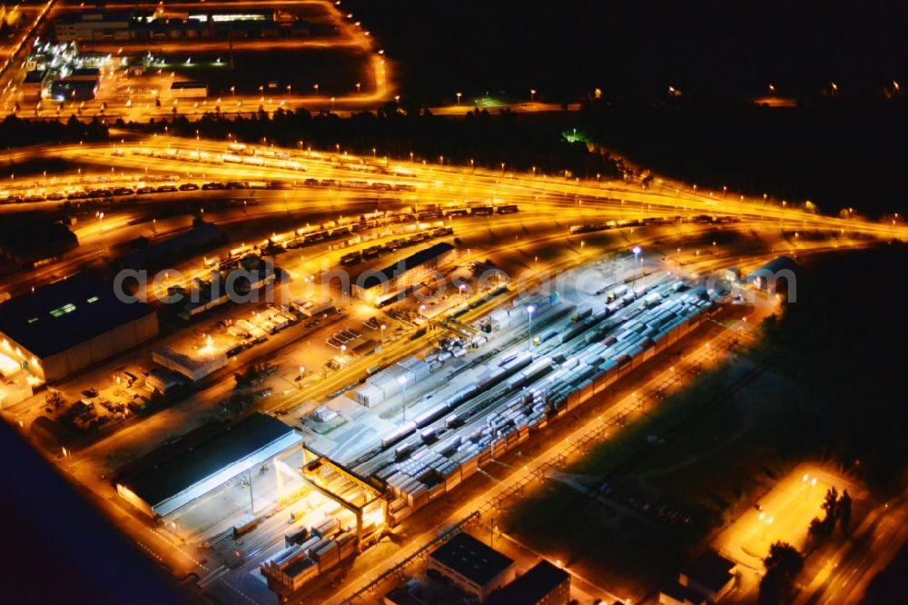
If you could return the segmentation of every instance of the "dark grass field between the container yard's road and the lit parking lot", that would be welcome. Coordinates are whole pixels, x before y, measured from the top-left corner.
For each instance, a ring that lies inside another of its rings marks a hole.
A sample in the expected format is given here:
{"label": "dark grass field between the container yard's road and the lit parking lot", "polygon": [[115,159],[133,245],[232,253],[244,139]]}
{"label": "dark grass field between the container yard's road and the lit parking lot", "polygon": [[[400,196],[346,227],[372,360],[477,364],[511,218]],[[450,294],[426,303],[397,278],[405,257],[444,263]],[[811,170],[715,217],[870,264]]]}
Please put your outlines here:
{"label": "dark grass field between the container yard's road and the lit parking lot", "polygon": [[738,357],[703,373],[568,466],[566,476],[584,485],[606,482],[601,499],[548,481],[503,524],[609,590],[651,590],[789,464],[777,427],[804,408],[785,379],[770,369],[717,399],[752,365]]}

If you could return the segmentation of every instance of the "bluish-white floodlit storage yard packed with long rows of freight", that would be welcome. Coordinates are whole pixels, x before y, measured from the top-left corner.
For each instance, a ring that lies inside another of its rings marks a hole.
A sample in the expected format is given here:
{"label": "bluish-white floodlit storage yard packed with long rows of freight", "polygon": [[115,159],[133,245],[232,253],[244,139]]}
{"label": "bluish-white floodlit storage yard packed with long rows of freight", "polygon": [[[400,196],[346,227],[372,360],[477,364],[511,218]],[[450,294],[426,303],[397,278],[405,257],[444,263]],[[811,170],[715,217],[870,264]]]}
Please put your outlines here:
{"label": "bluish-white floodlit storage yard packed with long rows of freight", "polygon": [[[374,399],[380,391],[383,405],[402,407],[403,388],[412,382],[410,398],[419,401],[412,420],[383,434],[369,451],[341,458],[396,496],[391,524],[696,329],[716,310],[718,294],[665,275],[636,289],[611,284],[578,298],[585,300],[518,300],[509,313],[492,313],[498,332],[474,360],[435,372],[426,362],[401,363],[357,393],[365,401],[364,392]],[[530,307],[537,315],[532,334]]]}

